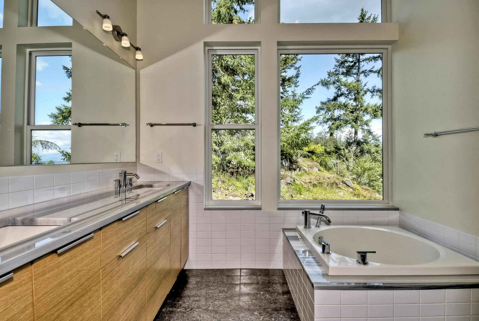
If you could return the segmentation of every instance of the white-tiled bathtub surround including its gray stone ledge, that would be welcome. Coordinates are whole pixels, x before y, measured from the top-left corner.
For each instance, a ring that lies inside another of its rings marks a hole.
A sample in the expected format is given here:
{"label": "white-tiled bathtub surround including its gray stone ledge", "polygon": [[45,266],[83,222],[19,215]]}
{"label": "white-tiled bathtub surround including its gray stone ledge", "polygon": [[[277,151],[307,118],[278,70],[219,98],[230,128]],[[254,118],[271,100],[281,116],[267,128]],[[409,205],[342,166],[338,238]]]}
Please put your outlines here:
{"label": "white-tiled bathtub surround including its gray stone ledge", "polygon": [[[399,277],[383,277],[379,282],[367,277],[360,277],[359,282],[358,277],[331,277],[321,273],[314,256],[305,254],[309,251],[295,234],[285,230],[283,265],[302,321],[479,320],[479,288],[454,288],[472,286],[473,282],[447,284],[440,280],[438,284],[436,278],[434,286],[422,277],[414,283],[397,283]],[[479,286],[479,280],[474,286]]]}

